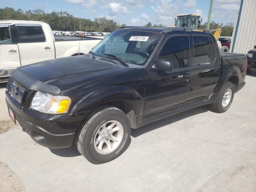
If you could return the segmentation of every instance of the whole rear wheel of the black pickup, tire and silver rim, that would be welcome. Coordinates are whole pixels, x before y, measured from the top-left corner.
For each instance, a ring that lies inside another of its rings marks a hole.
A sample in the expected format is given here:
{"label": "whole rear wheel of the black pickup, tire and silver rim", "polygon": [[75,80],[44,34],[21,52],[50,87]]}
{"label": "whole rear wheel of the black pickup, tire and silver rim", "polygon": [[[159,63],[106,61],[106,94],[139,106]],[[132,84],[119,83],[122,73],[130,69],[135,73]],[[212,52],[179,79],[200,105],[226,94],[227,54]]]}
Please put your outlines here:
{"label": "whole rear wheel of the black pickup, tire and silver rim", "polygon": [[218,94],[216,102],[211,106],[211,110],[216,113],[223,113],[230,107],[235,93],[235,86],[231,82],[226,82]]}

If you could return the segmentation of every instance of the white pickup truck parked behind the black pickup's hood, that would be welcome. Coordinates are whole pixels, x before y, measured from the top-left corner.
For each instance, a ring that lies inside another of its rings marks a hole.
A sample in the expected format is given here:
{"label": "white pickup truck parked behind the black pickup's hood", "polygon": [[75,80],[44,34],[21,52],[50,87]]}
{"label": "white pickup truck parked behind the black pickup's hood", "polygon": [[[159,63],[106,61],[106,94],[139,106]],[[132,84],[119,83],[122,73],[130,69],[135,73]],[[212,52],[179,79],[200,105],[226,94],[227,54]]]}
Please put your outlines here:
{"label": "white pickup truck parked behind the black pickup's hood", "polygon": [[[79,42],[80,41],[80,42]],[[38,21],[0,21],[0,82],[17,67],[88,53],[101,39],[54,37],[50,26]]]}

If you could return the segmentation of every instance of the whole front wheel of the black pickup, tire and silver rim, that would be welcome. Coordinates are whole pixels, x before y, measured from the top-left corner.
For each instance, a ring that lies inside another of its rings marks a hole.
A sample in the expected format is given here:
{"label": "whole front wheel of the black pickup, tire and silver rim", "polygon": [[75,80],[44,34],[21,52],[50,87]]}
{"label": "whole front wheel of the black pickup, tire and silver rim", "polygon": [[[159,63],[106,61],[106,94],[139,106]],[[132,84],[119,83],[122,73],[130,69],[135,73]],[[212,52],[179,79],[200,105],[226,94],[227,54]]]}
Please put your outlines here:
{"label": "whole front wheel of the black pickup, tire and silver rim", "polygon": [[131,126],[126,114],[111,106],[97,108],[76,134],[78,151],[91,163],[114,160],[128,147]]}

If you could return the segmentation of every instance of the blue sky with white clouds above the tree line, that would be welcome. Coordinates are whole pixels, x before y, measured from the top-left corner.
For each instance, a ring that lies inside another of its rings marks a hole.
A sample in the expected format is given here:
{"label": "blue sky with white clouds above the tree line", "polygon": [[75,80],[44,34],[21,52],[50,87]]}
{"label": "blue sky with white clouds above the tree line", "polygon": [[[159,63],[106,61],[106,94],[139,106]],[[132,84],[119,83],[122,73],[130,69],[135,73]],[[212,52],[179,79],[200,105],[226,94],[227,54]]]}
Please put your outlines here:
{"label": "blue sky with white clouds above the tree line", "polygon": [[[197,13],[207,22],[210,0],[0,0],[0,8],[6,6],[23,10],[42,9],[46,13],[67,11],[81,18],[94,20],[107,17],[128,25],[174,24],[178,14]],[[214,0],[212,21],[235,22],[240,0]]]}

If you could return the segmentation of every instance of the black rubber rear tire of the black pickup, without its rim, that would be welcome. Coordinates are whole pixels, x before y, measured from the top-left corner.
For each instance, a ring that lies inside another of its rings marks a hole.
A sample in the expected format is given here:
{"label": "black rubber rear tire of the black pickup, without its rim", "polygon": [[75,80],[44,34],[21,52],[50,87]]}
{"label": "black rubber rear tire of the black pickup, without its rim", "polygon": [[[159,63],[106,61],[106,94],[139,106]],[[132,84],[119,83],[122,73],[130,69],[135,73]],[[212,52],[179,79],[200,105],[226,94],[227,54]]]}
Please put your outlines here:
{"label": "black rubber rear tire of the black pickup, without its rim", "polygon": [[[229,104],[226,107],[223,107],[222,106],[222,98],[223,98],[226,90],[228,90],[228,88],[230,88],[232,90],[232,96],[231,96]],[[224,113],[224,112],[226,112],[226,110],[228,110],[228,108],[230,107],[230,105],[231,105],[231,103],[233,101],[234,93],[235,93],[235,86],[234,86],[234,84],[231,83],[231,82],[226,82],[222,86],[222,88],[220,89],[220,92],[218,94],[217,100],[211,105],[211,110],[213,112],[216,112],[216,113]]]}

